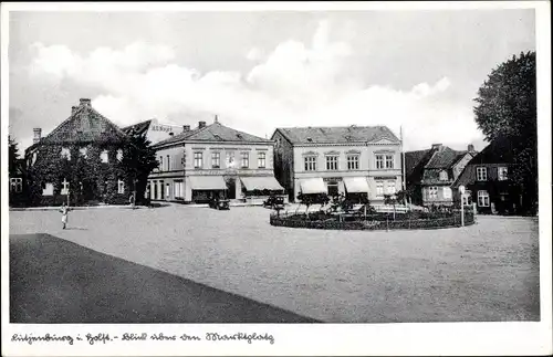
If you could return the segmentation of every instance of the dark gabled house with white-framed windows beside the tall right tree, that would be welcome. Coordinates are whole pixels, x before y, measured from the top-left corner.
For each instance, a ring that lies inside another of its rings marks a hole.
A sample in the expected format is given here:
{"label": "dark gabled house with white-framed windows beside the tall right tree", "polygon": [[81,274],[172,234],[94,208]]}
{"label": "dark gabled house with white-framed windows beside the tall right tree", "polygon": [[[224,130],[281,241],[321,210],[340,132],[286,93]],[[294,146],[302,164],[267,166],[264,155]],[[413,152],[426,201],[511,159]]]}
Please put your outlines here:
{"label": "dark gabled house with white-framed windows beside the tall right tree", "polygon": [[[477,203],[480,213],[518,213],[523,198],[520,187],[513,185],[509,176],[513,161],[511,144],[495,139],[470,160],[455,188],[465,186],[465,203]],[[457,200],[460,200],[458,192]]]}

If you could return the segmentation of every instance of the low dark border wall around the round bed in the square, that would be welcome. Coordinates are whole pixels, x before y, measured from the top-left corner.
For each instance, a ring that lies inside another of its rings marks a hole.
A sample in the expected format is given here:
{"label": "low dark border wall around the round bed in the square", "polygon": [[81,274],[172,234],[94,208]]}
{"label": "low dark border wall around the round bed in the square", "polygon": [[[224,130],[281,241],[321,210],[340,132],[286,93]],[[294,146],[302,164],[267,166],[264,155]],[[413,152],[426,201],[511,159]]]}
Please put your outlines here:
{"label": "low dark border wall around the round bed in the square", "polygon": [[[447,218],[436,219],[405,219],[405,220],[356,220],[338,222],[336,219],[328,220],[309,220],[305,216],[270,216],[271,225],[289,228],[309,228],[325,230],[411,230],[411,229],[441,229],[461,227],[461,216],[456,213]],[[465,225],[474,224],[474,214],[465,213]]]}

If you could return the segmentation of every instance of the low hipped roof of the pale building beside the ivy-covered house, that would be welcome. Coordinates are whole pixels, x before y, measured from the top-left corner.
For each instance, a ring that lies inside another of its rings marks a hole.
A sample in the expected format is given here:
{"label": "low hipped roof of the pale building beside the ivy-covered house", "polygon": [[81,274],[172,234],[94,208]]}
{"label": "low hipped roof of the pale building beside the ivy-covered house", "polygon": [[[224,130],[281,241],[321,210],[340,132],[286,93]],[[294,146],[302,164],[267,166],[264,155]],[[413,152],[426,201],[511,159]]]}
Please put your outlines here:
{"label": "low hipped roof of the pale building beside the ivy-covered house", "polygon": [[261,138],[248,133],[232,129],[228,126],[215,122],[202,128],[195,128],[189,132],[184,132],[179,135],[175,135],[168,139],[161,140],[154,145],[154,147],[165,146],[168,144],[175,144],[180,141],[225,141],[225,143],[267,143],[270,144],[272,140]]}

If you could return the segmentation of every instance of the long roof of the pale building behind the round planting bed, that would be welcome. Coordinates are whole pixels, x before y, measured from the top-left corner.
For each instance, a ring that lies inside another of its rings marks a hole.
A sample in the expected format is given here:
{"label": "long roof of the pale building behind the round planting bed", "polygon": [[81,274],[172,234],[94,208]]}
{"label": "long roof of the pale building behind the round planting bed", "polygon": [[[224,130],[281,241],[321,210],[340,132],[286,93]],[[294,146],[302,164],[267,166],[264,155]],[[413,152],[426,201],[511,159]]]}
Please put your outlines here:
{"label": "long roof of the pale building behind the round planting bed", "polygon": [[399,143],[386,126],[333,126],[276,128],[291,144],[347,144],[388,139]]}

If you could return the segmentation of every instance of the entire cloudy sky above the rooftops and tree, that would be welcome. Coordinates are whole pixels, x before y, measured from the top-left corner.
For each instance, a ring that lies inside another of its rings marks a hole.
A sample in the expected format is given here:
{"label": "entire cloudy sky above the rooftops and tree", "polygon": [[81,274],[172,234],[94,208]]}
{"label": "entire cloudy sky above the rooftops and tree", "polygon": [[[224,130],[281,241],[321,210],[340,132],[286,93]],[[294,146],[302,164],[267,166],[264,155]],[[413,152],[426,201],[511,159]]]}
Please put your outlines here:
{"label": "entire cloudy sky above the rooftops and tree", "polygon": [[10,12],[10,135],[24,149],[87,97],[119,126],[386,125],[406,150],[480,150],[473,98],[535,50],[534,23],[524,9]]}

